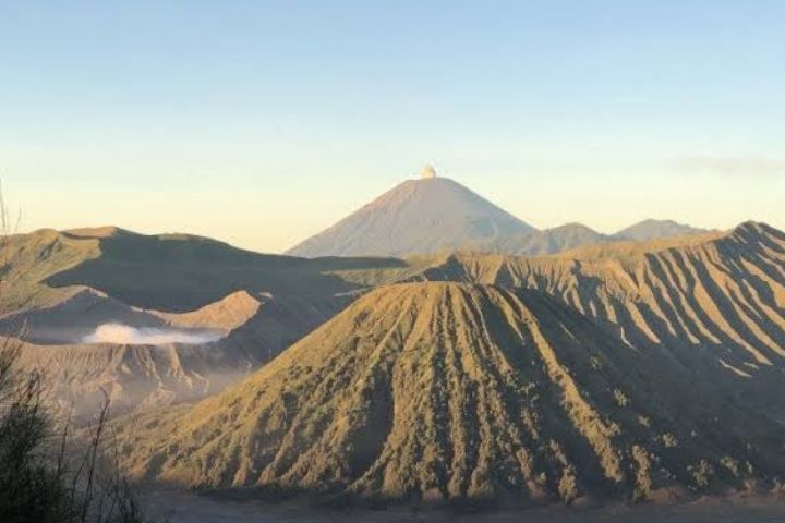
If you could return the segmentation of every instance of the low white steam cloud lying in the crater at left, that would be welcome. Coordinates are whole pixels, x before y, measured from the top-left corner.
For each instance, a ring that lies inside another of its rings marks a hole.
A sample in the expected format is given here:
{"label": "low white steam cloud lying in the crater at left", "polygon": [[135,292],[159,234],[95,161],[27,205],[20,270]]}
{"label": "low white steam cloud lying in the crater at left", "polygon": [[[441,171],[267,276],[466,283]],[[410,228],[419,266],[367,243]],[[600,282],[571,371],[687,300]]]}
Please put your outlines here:
{"label": "low white steam cloud lying in the crater at left", "polygon": [[82,342],[116,343],[123,345],[164,345],[167,343],[200,344],[217,341],[221,338],[222,335],[217,331],[102,324],[96,327],[96,330],[92,335],[85,336]]}

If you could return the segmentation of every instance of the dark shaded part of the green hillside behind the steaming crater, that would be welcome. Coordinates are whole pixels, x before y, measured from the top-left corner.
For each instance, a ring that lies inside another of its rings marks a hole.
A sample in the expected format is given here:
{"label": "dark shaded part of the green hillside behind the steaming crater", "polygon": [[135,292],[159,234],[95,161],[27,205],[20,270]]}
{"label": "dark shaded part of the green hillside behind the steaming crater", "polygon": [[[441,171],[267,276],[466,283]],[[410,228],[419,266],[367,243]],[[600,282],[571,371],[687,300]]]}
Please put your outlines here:
{"label": "dark shaded part of the green hillside behind the steaming crater", "polygon": [[120,234],[100,239],[99,247],[100,256],[46,282],[88,285],[131,305],[185,312],[241,290],[324,297],[359,289],[330,271],[401,265],[378,258],[266,255],[183,234]]}

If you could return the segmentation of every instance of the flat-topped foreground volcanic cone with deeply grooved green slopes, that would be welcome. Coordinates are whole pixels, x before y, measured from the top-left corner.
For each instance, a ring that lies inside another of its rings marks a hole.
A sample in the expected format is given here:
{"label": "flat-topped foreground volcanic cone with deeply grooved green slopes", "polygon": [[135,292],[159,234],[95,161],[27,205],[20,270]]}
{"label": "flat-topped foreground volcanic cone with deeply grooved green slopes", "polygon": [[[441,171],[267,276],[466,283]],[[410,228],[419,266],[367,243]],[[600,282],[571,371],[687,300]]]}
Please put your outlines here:
{"label": "flat-topped foreground volcanic cone with deeply grooved green slopes", "polygon": [[649,497],[785,470],[773,425],[685,376],[540,293],[398,284],[118,440],[147,478],[425,501]]}

